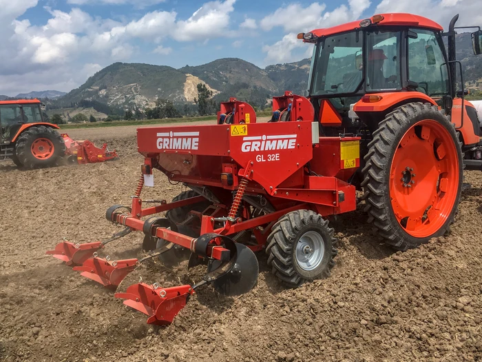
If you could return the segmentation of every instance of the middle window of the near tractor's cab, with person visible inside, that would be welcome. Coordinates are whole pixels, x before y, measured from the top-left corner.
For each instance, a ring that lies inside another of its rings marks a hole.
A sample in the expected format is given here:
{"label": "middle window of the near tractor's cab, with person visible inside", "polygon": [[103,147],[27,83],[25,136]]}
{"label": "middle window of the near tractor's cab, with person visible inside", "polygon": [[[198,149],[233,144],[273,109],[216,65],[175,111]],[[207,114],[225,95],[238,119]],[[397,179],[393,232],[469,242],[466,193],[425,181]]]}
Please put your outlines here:
{"label": "middle window of the near tractor's cab, with person visible inside", "polygon": [[399,90],[400,32],[367,32],[367,90]]}

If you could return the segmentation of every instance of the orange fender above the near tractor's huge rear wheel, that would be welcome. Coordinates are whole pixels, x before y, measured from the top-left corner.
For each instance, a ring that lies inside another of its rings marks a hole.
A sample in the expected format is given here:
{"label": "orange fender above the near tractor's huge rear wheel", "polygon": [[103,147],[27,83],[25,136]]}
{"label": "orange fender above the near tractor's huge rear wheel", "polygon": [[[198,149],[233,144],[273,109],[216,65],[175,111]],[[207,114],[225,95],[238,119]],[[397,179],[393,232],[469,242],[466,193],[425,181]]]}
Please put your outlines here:
{"label": "orange fender above the near tractor's huge rear wheel", "polygon": [[355,103],[353,110],[358,112],[386,112],[400,105],[412,102],[431,103],[437,105],[435,101],[422,92],[388,92],[388,93],[370,93],[366,97],[380,97],[378,101],[364,101],[364,98]]}

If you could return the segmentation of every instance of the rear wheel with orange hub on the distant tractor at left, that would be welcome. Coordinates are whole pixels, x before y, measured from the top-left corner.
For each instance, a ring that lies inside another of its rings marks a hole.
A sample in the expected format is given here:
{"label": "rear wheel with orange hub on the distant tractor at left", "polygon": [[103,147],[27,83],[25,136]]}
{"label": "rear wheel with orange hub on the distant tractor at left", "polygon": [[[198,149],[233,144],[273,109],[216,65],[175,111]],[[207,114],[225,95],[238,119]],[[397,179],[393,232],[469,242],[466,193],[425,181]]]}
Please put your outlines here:
{"label": "rear wheel with orange hub on the distant tractor at left", "polygon": [[23,131],[15,146],[17,160],[25,168],[59,165],[65,155],[65,143],[56,130],[45,125]]}

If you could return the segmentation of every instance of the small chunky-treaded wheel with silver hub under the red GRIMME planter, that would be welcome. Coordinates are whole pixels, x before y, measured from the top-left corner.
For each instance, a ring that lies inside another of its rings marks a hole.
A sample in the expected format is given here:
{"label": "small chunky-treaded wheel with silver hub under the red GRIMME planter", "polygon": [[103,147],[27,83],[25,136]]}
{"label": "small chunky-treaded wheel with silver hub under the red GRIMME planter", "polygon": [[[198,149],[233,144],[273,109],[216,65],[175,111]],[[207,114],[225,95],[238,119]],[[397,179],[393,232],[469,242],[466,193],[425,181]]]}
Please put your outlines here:
{"label": "small chunky-treaded wheel with silver hub under the red GRIMME planter", "polygon": [[266,253],[273,274],[291,287],[304,281],[326,278],[335,265],[337,239],[320,214],[297,210],[273,226]]}

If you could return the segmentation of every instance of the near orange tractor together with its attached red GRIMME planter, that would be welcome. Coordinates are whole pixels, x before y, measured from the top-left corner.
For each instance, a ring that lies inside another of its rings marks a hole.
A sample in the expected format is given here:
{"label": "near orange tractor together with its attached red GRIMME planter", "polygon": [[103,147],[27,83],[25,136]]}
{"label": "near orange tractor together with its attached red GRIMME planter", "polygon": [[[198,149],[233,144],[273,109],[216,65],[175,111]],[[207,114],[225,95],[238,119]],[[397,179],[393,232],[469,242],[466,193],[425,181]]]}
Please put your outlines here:
{"label": "near orange tractor together with its attached red GRIMME planter", "polygon": [[[129,206],[106,213],[124,229],[103,242],[65,241],[48,254],[113,289],[153,257],[167,265],[189,259],[189,268],[207,263],[196,284],[138,283],[116,294],[148,323],[166,324],[202,285],[227,295],[251,290],[254,252],[266,252],[273,274],[291,287],[328,276],[337,240],[327,219],[355,210],[357,190],[393,248],[443,235],[457,212],[464,154],[481,164],[479,120],[455,79],[456,21],[445,33],[423,17],[380,14],[299,34],[315,45],[308,98],[274,97],[269,123],[230,99],[217,124],[138,129],[145,157],[138,188]],[[480,54],[480,30],[472,41]],[[143,199],[154,170],[190,190],[170,203]],[[99,255],[134,231],[144,234],[145,258]]]}

